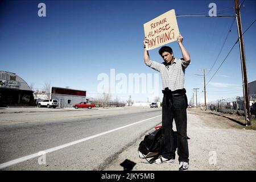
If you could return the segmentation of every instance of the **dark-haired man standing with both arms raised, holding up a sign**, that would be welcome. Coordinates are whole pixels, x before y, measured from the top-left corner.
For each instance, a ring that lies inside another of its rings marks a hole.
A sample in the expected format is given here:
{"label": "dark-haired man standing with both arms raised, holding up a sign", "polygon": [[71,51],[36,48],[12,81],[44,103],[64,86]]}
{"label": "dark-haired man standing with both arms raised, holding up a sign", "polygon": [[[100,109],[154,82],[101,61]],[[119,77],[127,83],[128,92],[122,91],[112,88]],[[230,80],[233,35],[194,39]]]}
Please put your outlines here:
{"label": "dark-haired man standing with both arms raised, holding up a sign", "polygon": [[[172,10],[171,10],[172,11]],[[160,16],[159,16],[160,17]],[[158,18],[159,18],[158,17]],[[161,21],[156,19],[152,20],[152,27],[157,27],[157,24],[162,24],[164,27],[168,21],[164,20],[164,17],[160,17]],[[145,24],[144,24],[145,27]],[[168,26],[167,26],[168,27]],[[171,27],[170,27],[171,28]],[[168,28],[168,30],[170,30]],[[161,28],[163,30],[163,28]],[[173,28],[175,29],[175,28]],[[159,29],[158,29],[159,30]],[[161,30],[161,31],[162,31]],[[166,30],[166,28],[165,28]],[[155,31],[153,31],[155,33]],[[172,30],[175,32],[175,30]],[[159,31],[158,31],[159,33]],[[147,32],[145,30],[145,35]],[[153,34],[148,34],[153,35]],[[165,36],[166,34],[161,34]],[[161,36],[158,35],[158,36]],[[167,33],[168,35],[168,33]],[[162,36],[162,38],[163,38]],[[175,33],[173,35],[175,37]],[[168,37],[168,36],[167,36]],[[152,38],[152,37],[151,37]],[[150,38],[150,39],[151,39]],[[162,108],[162,127],[163,127],[163,138],[164,138],[164,150],[162,156],[159,156],[158,159],[155,160],[156,164],[162,163],[174,163],[175,159],[175,151],[174,151],[174,143],[173,143],[173,130],[172,130],[172,122],[175,119],[176,129],[177,129],[177,154],[179,155],[179,170],[187,170],[188,169],[188,137],[187,137],[187,107],[188,101],[186,96],[186,90],[184,89],[184,74],[185,68],[191,63],[190,55],[183,46],[183,37],[178,34],[176,36],[177,43],[179,44],[181,53],[183,57],[181,59],[176,59],[174,57],[174,53],[172,52],[172,48],[168,46],[163,46],[159,49],[159,54],[163,58],[164,62],[162,64],[152,61],[150,59],[148,49],[152,48],[152,43],[154,40],[150,42],[150,39],[147,36],[144,38],[144,63],[156,71],[160,72],[162,75],[162,83],[163,83],[163,108]],[[156,39],[155,39],[156,40]],[[171,40],[173,42],[174,40]],[[160,43],[160,41],[159,41]],[[153,46],[157,46],[153,44]]]}

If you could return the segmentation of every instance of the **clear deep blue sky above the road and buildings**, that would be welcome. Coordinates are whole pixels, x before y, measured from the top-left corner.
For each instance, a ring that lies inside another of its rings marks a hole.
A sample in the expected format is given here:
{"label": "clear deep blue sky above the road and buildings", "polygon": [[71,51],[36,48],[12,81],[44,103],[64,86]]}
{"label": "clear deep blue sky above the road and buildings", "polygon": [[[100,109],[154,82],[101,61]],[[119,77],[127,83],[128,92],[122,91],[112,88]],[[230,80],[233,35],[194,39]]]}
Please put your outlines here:
{"label": "clear deep blue sky above the road and buildings", "polygon": [[[38,16],[38,4],[46,3],[46,17]],[[3,1],[0,5],[0,70],[16,73],[29,85],[87,90],[97,97],[100,73],[158,73],[143,63],[143,24],[175,9],[176,15],[208,14],[209,3],[220,15],[234,15],[234,1]],[[242,2],[242,1],[240,1]],[[243,31],[256,17],[256,2],[246,0],[241,7]],[[177,23],[192,63],[185,73],[188,99],[193,88],[203,98],[201,68],[211,68],[229,31],[233,18],[180,17]],[[255,23],[244,35],[247,77],[256,80]],[[226,44],[207,75],[207,82],[238,38],[236,21]],[[176,42],[174,56],[181,57]],[[152,60],[162,63],[158,48],[150,51]],[[159,75],[159,97],[162,98]],[[131,95],[134,101],[147,101],[148,94],[118,94],[120,100]],[[207,85],[207,98],[242,96],[239,44]],[[115,98],[115,94],[113,94]],[[150,97],[151,101],[152,97]]]}

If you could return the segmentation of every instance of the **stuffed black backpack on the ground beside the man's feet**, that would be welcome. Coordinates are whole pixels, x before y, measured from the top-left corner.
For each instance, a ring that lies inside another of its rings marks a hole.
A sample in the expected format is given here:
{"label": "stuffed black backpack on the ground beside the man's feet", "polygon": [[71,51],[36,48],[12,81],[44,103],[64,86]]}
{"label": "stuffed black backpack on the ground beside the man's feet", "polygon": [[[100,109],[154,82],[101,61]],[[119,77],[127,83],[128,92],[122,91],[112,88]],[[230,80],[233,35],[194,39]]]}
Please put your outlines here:
{"label": "stuffed black backpack on the ground beside the man's feet", "polygon": [[138,153],[142,159],[152,158],[148,163],[152,164],[163,152],[162,127],[147,134],[139,143]]}

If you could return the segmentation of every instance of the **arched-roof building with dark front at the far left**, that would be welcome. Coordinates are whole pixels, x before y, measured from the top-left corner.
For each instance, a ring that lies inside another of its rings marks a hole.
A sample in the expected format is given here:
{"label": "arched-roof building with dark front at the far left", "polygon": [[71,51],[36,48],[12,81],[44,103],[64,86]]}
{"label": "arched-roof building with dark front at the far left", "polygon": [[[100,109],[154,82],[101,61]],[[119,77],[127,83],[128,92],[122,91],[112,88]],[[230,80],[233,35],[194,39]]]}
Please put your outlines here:
{"label": "arched-roof building with dark front at the far left", "polygon": [[0,107],[35,106],[33,91],[15,73],[0,71]]}

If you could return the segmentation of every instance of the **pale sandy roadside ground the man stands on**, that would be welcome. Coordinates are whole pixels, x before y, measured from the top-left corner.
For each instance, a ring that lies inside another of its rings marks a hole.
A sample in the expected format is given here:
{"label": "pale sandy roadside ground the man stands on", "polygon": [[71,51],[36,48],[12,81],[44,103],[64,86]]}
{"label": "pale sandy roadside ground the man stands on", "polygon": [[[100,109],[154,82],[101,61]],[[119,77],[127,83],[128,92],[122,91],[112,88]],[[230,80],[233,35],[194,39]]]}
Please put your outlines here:
{"label": "pale sandy roadside ground the man stands on", "polygon": [[[256,170],[256,131],[241,125],[234,120],[235,115],[230,115],[195,108],[188,109],[187,133],[191,138],[188,140],[189,170]],[[174,130],[176,130],[175,125]],[[129,160],[135,164],[134,171],[177,171],[179,167],[177,151],[174,164],[148,164],[145,159],[140,159],[137,150],[143,138],[144,136],[126,148],[106,166],[105,170],[123,170],[120,164]]]}

